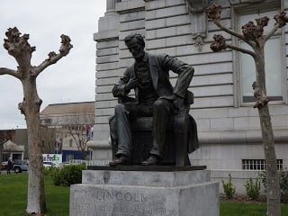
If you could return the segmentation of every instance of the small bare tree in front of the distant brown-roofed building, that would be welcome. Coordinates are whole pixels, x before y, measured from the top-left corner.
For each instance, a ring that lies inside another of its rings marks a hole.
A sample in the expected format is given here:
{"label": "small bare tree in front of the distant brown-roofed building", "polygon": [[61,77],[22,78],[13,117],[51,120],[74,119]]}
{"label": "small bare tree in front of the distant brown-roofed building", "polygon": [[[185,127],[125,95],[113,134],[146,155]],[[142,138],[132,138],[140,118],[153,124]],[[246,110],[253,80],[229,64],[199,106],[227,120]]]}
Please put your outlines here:
{"label": "small bare tree in front of the distant brown-roofed building", "polygon": [[78,113],[63,117],[67,136],[72,137],[76,142],[76,147],[86,157],[87,141],[91,139],[91,130],[94,125],[94,114]]}

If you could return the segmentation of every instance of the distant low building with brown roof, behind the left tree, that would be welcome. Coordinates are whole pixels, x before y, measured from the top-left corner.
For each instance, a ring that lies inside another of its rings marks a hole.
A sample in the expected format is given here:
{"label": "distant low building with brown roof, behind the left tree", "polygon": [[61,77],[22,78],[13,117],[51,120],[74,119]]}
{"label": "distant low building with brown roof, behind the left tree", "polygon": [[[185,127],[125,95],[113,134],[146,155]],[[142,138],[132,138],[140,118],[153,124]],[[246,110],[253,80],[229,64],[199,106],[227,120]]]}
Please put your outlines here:
{"label": "distant low building with brown roof, behind the left tree", "polygon": [[85,159],[93,137],[94,102],[49,104],[40,112],[43,153],[62,154],[63,161]]}

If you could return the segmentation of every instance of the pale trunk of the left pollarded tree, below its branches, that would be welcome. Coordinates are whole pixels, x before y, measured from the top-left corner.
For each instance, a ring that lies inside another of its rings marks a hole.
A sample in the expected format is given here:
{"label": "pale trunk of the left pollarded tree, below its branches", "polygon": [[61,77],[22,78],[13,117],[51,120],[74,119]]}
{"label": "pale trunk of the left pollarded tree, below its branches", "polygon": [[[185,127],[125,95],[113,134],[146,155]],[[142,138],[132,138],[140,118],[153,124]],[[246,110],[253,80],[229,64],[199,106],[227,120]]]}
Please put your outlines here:
{"label": "pale trunk of the left pollarded tree, below its branches", "polygon": [[40,103],[36,81],[31,77],[23,79],[23,103],[20,103],[27,123],[29,178],[27,213],[46,212],[42,145],[40,140]]}

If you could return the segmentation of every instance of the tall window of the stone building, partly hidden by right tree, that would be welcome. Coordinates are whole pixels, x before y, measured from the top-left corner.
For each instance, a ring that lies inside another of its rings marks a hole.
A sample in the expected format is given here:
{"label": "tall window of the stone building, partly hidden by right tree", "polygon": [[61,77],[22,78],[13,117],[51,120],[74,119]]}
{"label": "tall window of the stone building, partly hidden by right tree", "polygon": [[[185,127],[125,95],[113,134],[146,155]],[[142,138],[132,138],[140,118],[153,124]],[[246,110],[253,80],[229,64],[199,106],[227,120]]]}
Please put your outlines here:
{"label": "tall window of the stone building, partly hidden by right tree", "polygon": [[[278,10],[250,12],[250,14],[238,14],[238,28],[245,23],[253,21],[259,17],[268,16],[270,18],[265,32],[270,31],[274,24],[274,16],[279,14]],[[240,31],[240,29],[239,29]],[[251,49],[247,43],[238,40],[238,46],[244,49]],[[266,60],[266,92],[270,101],[284,101],[284,53],[282,48],[281,29],[266,41],[265,60]],[[247,54],[238,53],[238,71],[240,79],[240,94],[242,103],[255,102],[252,83],[256,81],[256,67],[254,59]]]}

